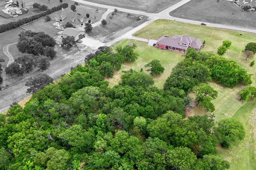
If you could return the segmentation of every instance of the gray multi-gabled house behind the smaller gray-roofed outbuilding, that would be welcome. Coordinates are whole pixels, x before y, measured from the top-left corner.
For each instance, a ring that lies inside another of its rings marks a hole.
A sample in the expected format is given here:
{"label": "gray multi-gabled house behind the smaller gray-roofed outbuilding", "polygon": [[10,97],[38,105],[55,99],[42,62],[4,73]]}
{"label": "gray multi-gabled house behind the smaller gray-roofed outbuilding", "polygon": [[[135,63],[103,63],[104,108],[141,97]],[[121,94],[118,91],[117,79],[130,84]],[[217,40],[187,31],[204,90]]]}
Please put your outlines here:
{"label": "gray multi-gabled house behind the smaller gray-roofed outbuilding", "polygon": [[73,24],[76,28],[84,28],[86,23],[86,18],[79,12],[77,9],[76,12],[73,12],[69,8],[66,8],[61,13],[55,15],[54,25],[57,26],[58,29],[64,29],[67,22]]}

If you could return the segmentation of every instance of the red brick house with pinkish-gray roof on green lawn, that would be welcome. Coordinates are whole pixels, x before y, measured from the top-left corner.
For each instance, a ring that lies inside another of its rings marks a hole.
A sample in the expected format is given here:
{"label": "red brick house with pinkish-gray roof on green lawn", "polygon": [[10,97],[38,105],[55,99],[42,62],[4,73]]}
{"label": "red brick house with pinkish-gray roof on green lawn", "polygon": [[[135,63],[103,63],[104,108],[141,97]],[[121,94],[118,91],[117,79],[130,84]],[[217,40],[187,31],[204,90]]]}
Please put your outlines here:
{"label": "red brick house with pinkish-gray roof on green lawn", "polygon": [[185,35],[175,35],[173,37],[164,36],[156,42],[156,46],[161,49],[185,53],[189,47],[194,48],[195,50],[200,50],[202,41]]}

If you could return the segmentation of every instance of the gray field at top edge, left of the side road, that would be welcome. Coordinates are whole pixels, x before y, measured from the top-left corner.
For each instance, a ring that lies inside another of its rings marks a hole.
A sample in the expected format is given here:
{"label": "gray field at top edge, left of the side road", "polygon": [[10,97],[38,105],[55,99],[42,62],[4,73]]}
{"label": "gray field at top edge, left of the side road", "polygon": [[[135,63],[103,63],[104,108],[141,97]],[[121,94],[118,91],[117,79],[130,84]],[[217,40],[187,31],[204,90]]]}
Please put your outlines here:
{"label": "gray field at top edge, left of the side road", "polygon": [[181,0],[86,0],[103,5],[111,5],[149,13],[158,13]]}

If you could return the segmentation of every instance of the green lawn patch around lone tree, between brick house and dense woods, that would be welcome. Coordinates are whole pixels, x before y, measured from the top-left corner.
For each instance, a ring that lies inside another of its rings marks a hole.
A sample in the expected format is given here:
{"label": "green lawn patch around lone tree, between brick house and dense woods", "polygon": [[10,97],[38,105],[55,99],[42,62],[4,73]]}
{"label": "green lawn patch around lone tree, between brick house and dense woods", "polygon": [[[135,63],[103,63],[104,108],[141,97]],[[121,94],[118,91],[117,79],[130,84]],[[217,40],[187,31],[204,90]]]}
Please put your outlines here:
{"label": "green lawn patch around lone tree, between brick house and dense woods", "polygon": [[128,71],[130,69],[140,71],[140,69],[143,69],[146,72],[146,69],[144,67],[145,64],[157,59],[161,62],[165,71],[163,74],[154,76],[153,78],[155,81],[155,86],[157,86],[158,88],[163,88],[164,82],[171,74],[173,67],[185,58],[181,53],[161,50],[153,46],[148,46],[145,42],[129,39],[125,39],[117,43],[114,48],[117,46],[124,46],[132,43],[137,45],[135,51],[139,54],[138,60],[134,63],[124,63],[121,70],[115,72],[113,78],[106,79],[107,81],[109,81],[110,87],[115,86],[121,81],[122,71]]}

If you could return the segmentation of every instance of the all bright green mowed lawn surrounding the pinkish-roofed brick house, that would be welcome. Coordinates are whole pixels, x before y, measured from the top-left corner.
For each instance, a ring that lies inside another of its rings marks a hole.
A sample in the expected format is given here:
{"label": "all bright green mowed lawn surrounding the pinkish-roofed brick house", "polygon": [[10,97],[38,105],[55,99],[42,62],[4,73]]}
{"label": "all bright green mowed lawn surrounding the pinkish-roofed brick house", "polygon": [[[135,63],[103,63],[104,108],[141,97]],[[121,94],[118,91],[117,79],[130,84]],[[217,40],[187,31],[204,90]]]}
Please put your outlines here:
{"label": "all bright green mowed lawn surrounding the pinkish-roofed brick house", "polygon": [[[223,56],[230,60],[236,61],[249,73],[256,72],[256,66],[250,67],[250,62],[256,60],[256,57],[245,60],[243,49],[249,42],[256,42],[256,34],[246,33],[233,30],[217,29],[211,27],[203,27],[201,25],[187,24],[169,20],[157,20],[148,25],[148,27],[135,33],[134,36],[141,38],[158,39],[163,35],[188,35],[206,41],[206,46],[203,50],[213,51],[217,53],[217,48],[222,44],[222,41],[229,39],[232,41],[230,49]],[[166,78],[170,75],[171,69],[179,61],[183,60],[183,56],[179,53],[167,52],[154,47],[149,47],[145,43],[133,40],[124,40],[117,45],[127,43],[135,43],[140,54],[139,59],[133,64],[124,64],[122,70],[130,68],[140,70],[146,63],[151,60],[158,59],[165,67],[165,72],[155,77],[155,85],[159,88],[163,87]],[[114,78],[109,79],[110,86],[114,86],[120,80],[121,71],[117,72]],[[256,77],[253,75],[253,86],[256,84]],[[233,89],[222,87],[220,84],[210,82],[211,86],[218,91],[218,97],[213,101],[215,105],[215,120],[221,120],[225,117],[235,117],[241,121],[246,131],[246,137],[243,141],[237,142],[230,149],[222,149],[218,147],[218,154],[230,162],[230,169],[256,169],[256,102],[239,101],[238,91],[244,88],[237,86]],[[205,114],[202,108],[195,108],[191,111],[191,115]]]}

